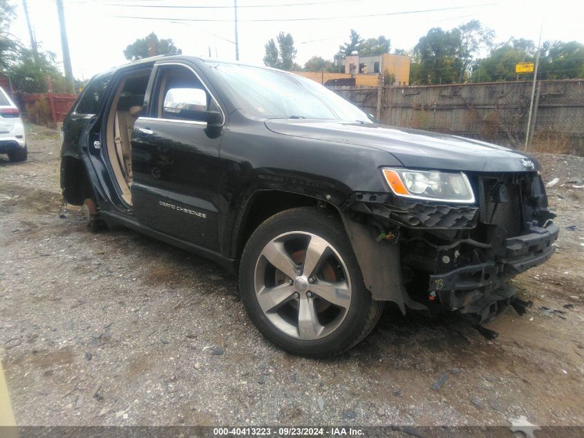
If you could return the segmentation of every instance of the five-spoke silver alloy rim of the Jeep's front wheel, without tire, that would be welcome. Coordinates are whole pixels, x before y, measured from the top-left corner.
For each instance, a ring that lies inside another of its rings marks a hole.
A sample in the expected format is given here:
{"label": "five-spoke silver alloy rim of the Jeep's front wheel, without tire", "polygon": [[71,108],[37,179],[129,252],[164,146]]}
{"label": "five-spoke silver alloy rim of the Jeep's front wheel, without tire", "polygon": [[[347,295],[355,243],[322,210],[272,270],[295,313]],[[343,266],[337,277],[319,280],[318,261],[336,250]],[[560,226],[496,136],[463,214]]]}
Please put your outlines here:
{"label": "five-spoke silver alloy rim of the Jeep's front wheel, without tire", "polygon": [[254,286],[266,318],[301,340],[338,329],[351,304],[345,262],[328,241],[310,232],[286,232],[269,241],[256,262]]}

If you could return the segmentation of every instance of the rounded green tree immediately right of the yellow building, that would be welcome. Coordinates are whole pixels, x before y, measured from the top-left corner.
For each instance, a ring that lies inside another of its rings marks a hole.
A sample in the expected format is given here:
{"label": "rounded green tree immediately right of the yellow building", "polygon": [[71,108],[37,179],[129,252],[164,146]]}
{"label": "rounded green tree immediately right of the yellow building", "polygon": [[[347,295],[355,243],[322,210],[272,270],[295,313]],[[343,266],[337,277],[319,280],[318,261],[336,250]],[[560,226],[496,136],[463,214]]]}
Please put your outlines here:
{"label": "rounded green tree immediately right of the yellow building", "polygon": [[410,82],[451,84],[458,80],[463,62],[460,58],[460,30],[432,28],[414,47],[415,62]]}

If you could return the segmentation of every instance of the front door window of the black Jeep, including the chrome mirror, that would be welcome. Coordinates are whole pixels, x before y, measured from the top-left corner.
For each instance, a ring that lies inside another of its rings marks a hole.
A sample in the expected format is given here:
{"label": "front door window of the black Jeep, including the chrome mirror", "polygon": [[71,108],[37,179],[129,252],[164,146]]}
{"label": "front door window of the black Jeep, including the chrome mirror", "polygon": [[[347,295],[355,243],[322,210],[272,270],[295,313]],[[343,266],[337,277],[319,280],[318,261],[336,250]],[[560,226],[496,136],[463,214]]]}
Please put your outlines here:
{"label": "front door window of the black Jeep, including the chrome mirror", "polygon": [[209,116],[219,113],[205,86],[186,67],[162,67],[157,82],[157,118],[210,122]]}

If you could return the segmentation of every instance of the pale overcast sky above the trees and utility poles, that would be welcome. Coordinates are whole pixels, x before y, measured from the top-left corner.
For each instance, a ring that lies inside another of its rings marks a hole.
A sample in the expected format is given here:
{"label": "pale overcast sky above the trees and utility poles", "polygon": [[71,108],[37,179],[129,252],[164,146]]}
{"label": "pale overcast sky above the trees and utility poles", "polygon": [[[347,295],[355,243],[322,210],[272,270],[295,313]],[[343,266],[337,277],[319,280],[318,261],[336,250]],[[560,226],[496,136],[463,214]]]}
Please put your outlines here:
{"label": "pale overcast sky above the trees and utility poles", "polygon": [[[13,0],[13,3],[18,3],[18,17],[12,25],[12,33],[28,45],[21,1]],[[285,6],[291,3],[296,4]],[[299,6],[297,3],[312,4]],[[234,60],[233,4],[233,0],[64,0],[73,73],[79,79],[87,79],[124,64],[124,48],[151,32],[159,38],[172,38],[187,55],[208,56],[210,48],[211,57]],[[441,8],[451,9],[437,10]],[[44,50],[57,53],[57,59],[62,61],[55,1],[28,0],[28,9],[37,41]],[[390,15],[419,10],[433,11]],[[359,17],[364,15],[373,16]],[[450,29],[471,19],[478,19],[495,30],[498,42],[512,36],[537,42],[543,23],[544,40],[584,43],[583,16],[584,1],[581,0],[238,0],[239,53],[242,62],[263,65],[265,42],[284,31],[294,37],[298,49],[296,62],[303,65],[313,55],[332,59],[339,51],[339,44],[348,39],[351,28],[365,38],[385,35],[391,40],[393,51],[394,48],[412,48],[430,28]],[[303,21],[288,21],[290,19]]]}

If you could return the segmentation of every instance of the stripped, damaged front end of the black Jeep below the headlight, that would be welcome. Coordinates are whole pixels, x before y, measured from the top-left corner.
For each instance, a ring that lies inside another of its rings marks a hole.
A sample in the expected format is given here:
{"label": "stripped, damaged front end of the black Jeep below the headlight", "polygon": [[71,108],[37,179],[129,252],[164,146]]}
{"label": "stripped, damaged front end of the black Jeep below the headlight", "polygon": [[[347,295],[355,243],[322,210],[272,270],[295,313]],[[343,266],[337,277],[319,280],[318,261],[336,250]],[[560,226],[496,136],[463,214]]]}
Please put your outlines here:
{"label": "stripped, damaged front end of the black Jeep below the headlight", "polygon": [[[346,226],[361,268],[362,257],[375,265],[362,269],[373,298],[402,311],[460,311],[480,324],[512,304],[512,277],[552,257],[558,227],[538,172],[476,173],[469,181],[473,203],[353,194]],[[399,272],[379,265],[387,253]]]}

